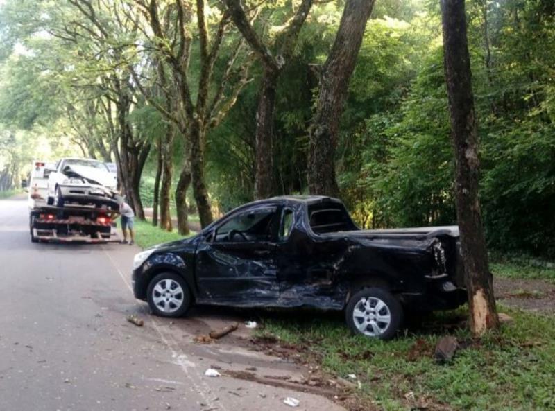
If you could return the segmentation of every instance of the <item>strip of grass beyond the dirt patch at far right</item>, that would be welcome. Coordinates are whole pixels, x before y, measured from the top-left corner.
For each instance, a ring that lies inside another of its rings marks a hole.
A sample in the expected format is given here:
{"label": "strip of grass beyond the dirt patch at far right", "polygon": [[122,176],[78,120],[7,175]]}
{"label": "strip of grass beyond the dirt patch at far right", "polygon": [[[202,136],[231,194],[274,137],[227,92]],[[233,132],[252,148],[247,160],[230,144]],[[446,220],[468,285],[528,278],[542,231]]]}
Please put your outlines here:
{"label": "strip of grass beyond the dirt patch at far right", "polygon": [[493,256],[490,270],[494,276],[509,279],[544,279],[555,282],[555,268],[542,261],[524,257]]}

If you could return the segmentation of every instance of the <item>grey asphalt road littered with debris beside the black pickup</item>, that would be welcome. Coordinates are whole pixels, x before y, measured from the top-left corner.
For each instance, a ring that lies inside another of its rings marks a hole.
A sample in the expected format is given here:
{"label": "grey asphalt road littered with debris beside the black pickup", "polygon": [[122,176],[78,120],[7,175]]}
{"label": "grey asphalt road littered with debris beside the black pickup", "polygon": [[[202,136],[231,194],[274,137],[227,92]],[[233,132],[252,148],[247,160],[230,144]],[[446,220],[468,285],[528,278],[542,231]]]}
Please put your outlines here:
{"label": "grey asphalt road littered with debris beside the black pickup", "polygon": [[[194,335],[231,320],[223,311],[173,322],[151,316],[130,290],[137,251],[31,243],[26,199],[0,200],[0,411],[290,410],[287,396],[300,399],[298,410],[341,410],[315,394],[204,376],[211,365],[306,370],[240,347],[244,327],[195,344]],[[129,313],[144,326],[126,322]]]}

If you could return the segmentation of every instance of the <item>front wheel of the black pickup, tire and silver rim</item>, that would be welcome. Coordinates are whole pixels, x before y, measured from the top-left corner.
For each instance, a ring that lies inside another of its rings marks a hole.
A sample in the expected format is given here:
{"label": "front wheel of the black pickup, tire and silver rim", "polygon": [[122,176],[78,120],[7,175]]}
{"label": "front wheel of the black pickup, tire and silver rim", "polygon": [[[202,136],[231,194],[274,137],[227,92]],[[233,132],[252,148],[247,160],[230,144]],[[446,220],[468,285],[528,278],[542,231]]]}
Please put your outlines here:
{"label": "front wheel of the black pickup, tire and silver rim", "polygon": [[146,299],[155,315],[181,317],[191,305],[191,292],[178,274],[162,272],[148,283]]}

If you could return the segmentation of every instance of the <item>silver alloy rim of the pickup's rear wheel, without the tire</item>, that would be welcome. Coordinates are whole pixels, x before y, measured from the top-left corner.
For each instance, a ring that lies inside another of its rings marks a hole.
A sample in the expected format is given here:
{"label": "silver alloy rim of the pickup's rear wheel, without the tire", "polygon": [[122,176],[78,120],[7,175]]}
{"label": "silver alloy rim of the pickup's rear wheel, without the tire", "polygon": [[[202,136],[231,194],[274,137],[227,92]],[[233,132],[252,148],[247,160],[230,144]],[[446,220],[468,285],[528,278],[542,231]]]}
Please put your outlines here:
{"label": "silver alloy rim of the pickup's rear wheel, without the tire", "polygon": [[391,324],[391,311],[387,304],[377,297],[362,297],[355,304],[352,320],[362,334],[377,337]]}

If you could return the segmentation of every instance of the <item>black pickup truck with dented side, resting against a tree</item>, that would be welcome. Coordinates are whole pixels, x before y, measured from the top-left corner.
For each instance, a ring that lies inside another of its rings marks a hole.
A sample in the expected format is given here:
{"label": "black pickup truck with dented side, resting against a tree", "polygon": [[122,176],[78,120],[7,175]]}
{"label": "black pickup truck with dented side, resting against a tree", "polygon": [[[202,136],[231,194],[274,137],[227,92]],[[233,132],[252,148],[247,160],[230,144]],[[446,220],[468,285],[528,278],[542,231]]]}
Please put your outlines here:
{"label": "black pickup truck with dented side, resting against a tree", "polygon": [[344,310],[350,328],[392,338],[404,311],[466,302],[457,227],[361,230],[340,200],[245,204],[194,237],[140,252],[135,297],[153,313],[191,304]]}

